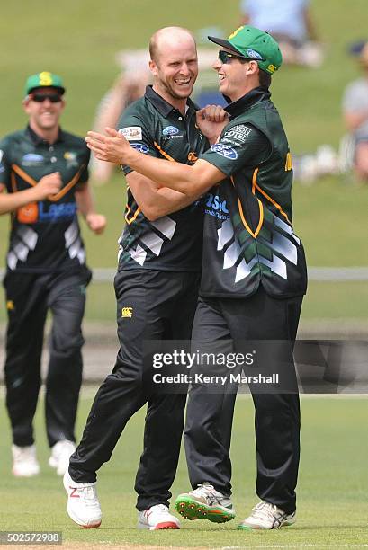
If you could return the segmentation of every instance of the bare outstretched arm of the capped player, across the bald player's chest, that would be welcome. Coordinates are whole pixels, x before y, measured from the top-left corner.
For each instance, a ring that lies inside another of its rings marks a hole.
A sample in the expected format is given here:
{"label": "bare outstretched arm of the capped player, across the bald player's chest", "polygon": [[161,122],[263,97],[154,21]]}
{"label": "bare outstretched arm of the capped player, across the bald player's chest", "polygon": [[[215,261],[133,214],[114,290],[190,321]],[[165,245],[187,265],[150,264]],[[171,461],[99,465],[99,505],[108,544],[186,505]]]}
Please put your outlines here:
{"label": "bare outstretched arm of the capped player, across the bald player's chest", "polygon": [[154,182],[175,191],[184,193],[193,200],[208,191],[212,185],[226,178],[216,166],[198,160],[193,166],[173,163],[163,159],[143,155],[130,147],[129,141],[114,129],[106,129],[108,136],[88,132],[87,146],[100,160],[127,164]]}

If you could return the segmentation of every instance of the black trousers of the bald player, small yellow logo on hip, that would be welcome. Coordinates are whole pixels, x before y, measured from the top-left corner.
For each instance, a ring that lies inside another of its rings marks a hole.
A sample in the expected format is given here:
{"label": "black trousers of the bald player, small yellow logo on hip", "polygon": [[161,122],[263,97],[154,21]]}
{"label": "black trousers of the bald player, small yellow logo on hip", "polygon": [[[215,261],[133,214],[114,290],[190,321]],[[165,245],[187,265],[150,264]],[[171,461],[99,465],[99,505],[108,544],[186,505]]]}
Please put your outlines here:
{"label": "black trousers of the bald player, small yellow logo on hip", "polygon": [[[112,456],[131,416],[148,404],[135,490],[138,510],[166,504],[176,473],[186,395],[155,394],[144,383],[145,340],[189,340],[198,297],[198,273],[126,270],[115,277],[120,350],[112,374],[94,397],[69,474],[92,483]],[[129,452],[129,442],[123,443]]]}

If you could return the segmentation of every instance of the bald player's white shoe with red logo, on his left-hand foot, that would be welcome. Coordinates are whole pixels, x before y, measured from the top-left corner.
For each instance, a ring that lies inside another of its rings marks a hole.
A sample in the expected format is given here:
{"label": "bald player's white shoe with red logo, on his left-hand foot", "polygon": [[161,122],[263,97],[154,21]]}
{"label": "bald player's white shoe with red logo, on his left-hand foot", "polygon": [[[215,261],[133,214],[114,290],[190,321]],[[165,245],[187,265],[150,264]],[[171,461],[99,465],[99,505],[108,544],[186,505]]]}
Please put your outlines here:
{"label": "bald player's white shoe with red logo, on his left-hand foot", "polygon": [[78,525],[86,529],[98,528],[103,514],[97,498],[97,483],[76,483],[68,471],[63,478],[67,491],[67,513]]}

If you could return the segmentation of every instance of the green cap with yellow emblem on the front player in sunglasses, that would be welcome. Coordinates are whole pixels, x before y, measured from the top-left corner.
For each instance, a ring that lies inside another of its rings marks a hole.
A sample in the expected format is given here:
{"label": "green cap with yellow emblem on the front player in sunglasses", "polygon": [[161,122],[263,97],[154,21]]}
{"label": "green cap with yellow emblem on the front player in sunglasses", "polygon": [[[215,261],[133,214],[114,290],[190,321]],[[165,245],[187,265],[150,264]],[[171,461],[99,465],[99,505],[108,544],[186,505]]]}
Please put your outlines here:
{"label": "green cap with yellow emblem on the front player in sunglasses", "polygon": [[256,27],[239,27],[230,34],[228,40],[213,36],[208,38],[211,42],[231,49],[244,58],[254,59],[258,67],[269,75],[273,75],[283,63],[283,56],[276,40],[268,32],[260,31]]}

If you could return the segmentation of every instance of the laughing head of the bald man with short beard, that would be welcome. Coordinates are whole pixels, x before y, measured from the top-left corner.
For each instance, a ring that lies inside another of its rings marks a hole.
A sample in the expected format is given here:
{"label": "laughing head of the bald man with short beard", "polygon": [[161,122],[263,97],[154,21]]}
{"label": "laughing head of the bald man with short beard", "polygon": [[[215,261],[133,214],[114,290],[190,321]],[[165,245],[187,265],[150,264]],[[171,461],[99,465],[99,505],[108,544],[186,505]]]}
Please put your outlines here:
{"label": "laughing head of the bald man with short beard", "polygon": [[180,108],[192,93],[198,75],[197,51],[189,32],[163,31],[157,34],[155,55],[149,67],[155,78],[155,91]]}

